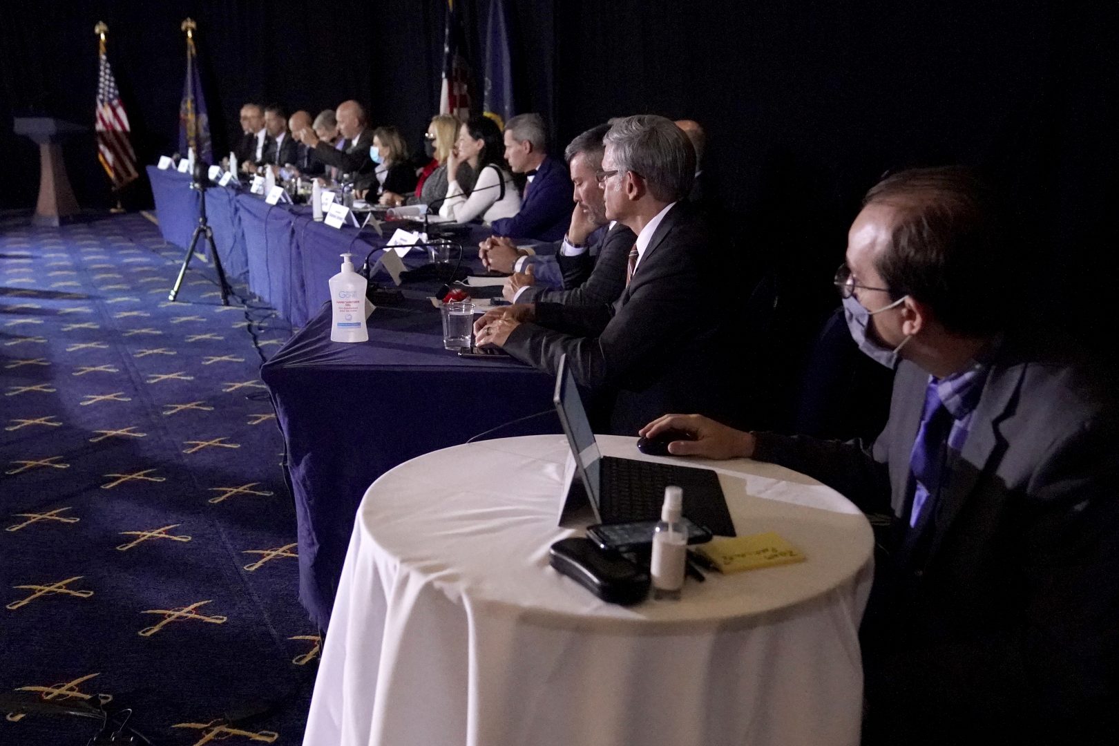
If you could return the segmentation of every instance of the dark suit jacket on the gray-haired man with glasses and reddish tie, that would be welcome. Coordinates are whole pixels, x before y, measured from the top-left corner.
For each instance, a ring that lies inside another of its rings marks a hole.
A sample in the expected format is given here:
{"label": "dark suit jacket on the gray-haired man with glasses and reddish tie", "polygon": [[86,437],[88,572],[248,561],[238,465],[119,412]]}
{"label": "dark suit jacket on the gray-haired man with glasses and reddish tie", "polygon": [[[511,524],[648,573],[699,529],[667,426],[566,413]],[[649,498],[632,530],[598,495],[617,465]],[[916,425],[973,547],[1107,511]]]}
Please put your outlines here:
{"label": "dark suit jacket on the gray-haired man with glasses and reddish tie", "polygon": [[505,349],[549,374],[566,355],[593,396],[596,432],[633,435],[666,412],[725,414],[716,259],[703,220],[678,204],[612,305],[537,303],[536,322],[514,329]]}

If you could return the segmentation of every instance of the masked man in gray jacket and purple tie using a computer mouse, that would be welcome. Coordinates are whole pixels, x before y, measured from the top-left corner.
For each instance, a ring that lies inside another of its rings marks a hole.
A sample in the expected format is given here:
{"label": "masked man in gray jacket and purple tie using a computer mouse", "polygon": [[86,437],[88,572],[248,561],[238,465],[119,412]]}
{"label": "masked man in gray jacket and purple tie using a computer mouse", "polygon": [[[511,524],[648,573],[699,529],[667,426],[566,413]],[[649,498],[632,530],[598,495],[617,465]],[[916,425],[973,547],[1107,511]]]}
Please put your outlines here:
{"label": "masked man in gray jacket and purple tie using a computer mouse", "polygon": [[1094,363],[1012,310],[1003,240],[963,169],[867,195],[836,285],[859,348],[897,366],[869,447],[697,415],[641,431],[686,433],[675,455],[794,469],[892,518],[862,626],[864,744],[1057,744],[1113,725],[1117,408]]}

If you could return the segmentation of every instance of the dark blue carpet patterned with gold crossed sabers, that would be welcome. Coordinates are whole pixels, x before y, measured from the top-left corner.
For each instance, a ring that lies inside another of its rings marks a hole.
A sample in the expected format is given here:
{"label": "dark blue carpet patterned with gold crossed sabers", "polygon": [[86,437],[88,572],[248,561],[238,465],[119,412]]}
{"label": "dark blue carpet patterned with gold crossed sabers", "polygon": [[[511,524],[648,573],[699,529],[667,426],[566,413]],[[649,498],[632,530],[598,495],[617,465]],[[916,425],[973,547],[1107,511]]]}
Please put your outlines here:
{"label": "dark blue carpet patterned with gold crossed sabers", "polygon": [[43,706],[97,702],[152,743],[302,738],[319,640],[258,380],[290,330],[197,261],[168,302],[180,261],[138,214],[0,221],[0,744],[85,744]]}

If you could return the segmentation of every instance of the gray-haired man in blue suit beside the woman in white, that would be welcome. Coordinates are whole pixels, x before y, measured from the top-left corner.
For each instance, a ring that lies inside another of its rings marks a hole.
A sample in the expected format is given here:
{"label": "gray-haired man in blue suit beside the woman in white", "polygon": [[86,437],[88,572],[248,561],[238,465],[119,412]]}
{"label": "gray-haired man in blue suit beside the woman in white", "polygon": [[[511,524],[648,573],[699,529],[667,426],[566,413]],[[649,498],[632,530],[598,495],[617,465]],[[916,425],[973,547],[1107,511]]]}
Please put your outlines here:
{"label": "gray-haired man in blue suit beside the woman in white", "polygon": [[528,178],[520,211],[493,220],[495,236],[560,240],[571,218],[571,179],[564,164],[547,154],[547,131],[539,114],[518,114],[505,125],[505,160]]}

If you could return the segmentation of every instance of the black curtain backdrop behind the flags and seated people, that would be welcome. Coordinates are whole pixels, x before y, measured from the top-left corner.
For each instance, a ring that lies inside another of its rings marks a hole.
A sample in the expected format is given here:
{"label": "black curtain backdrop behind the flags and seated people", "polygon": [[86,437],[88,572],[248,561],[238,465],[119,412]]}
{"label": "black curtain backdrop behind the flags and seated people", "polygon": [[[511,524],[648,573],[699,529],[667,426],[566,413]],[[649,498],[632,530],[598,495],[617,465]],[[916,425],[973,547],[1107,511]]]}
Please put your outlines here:
{"label": "black curtain backdrop behind the flags and seated people", "polygon": [[[490,0],[457,2],[477,70]],[[1108,4],[507,0],[517,108],[543,113],[557,147],[620,114],[699,120],[709,134],[706,170],[743,243],[825,283],[862,193],[881,173],[982,167],[1022,217],[1022,256],[1038,268],[1031,292],[1073,319],[1084,300],[1109,296],[1119,275],[1119,35]],[[444,8],[442,0],[8,3],[0,205],[32,205],[38,179],[36,151],[11,134],[11,115],[91,123],[97,20],[110,26],[133,141],[150,163],[177,142],[186,16],[198,21],[215,152],[228,150],[250,98],[313,114],[356,97],[374,124],[399,125],[419,148],[436,105]],[[79,201],[109,205],[92,135],[68,144],[66,157]],[[147,185],[130,188],[125,202],[150,205]]]}

